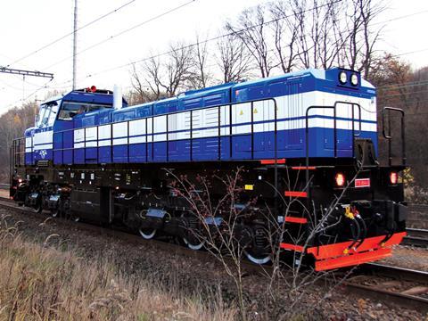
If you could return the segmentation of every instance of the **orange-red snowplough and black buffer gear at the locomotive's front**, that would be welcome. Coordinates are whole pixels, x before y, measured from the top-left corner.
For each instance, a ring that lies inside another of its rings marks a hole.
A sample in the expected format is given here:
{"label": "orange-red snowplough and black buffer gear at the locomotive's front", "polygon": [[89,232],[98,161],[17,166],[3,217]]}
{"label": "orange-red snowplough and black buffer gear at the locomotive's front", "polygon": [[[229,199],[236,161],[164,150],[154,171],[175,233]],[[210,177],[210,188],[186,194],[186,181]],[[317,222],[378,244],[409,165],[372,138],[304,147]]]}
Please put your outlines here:
{"label": "orange-red snowplough and black buffer gear at the locomotive's front", "polygon": [[[407,206],[392,201],[355,201],[332,213],[341,222],[330,231],[315,235],[306,246],[281,243],[286,251],[303,252],[316,271],[345,268],[391,256],[393,245],[406,236]],[[307,221],[305,221],[307,224]],[[339,242],[329,243],[327,235]],[[341,236],[339,236],[341,235]],[[347,238],[347,241],[344,239]],[[342,241],[342,242],[341,242]],[[309,256],[309,258],[308,258]]]}

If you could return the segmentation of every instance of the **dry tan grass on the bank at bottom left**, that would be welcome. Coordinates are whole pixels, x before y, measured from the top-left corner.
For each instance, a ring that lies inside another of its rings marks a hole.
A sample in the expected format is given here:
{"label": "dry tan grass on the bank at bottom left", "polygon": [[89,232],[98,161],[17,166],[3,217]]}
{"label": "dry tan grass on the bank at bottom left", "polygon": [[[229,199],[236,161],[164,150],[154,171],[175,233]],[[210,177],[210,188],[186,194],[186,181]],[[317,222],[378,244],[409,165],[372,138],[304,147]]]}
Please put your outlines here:
{"label": "dry tan grass on the bank at bottom left", "polygon": [[[51,237],[51,241],[55,236]],[[236,311],[213,296],[185,298],[120,275],[109,259],[23,241],[0,221],[0,320],[233,320]],[[144,271],[141,271],[144,274]],[[212,303],[215,302],[215,303]]]}

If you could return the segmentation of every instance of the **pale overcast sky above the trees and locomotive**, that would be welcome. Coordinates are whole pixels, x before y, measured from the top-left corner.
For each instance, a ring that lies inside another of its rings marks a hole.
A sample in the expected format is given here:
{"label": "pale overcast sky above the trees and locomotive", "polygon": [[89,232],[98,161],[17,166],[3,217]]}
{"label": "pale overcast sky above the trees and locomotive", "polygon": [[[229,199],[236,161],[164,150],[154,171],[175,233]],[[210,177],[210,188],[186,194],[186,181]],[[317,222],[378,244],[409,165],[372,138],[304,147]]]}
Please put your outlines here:
{"label": "pale overcast sky above the trees and locomotive", "polygon": [[[216,35],[227,19],[234,20],[244,8],[266,3],[265,0],[195,0],[175,12],[145,23],[118,37],[121,31],[150,20],[191,0],[136,0],[107,18],[78,32],[78,87],[95,85],[112,88],[118,84],[127,90],[130,86],[130,67],[109,70],[137,61],[151,52],[164,51],[171,41],[184,39],[193,42],[196,32]],[[78,2],[78,26],[94,21],[131,0],[91,0]],[[428,1],[391,0],[389,9],[379,18],[385,25],[383,50],[401,54],[415,68],[428,65],[426,21]],[[24,70],[52,72],[54,79],[46,89],[46,78],[25,78],[0,73],[0,113],[20,100],[44,99],[48,90],[68,90],[72,78],[72,37],[33,53],[43,45],[72,31],[74,0],[14,0],[2,2],[0,20],[0,66]],[[420,12],[419,14],[415,14]],[[411,15],[396,20],[397,17]],[[393,21],[389,21],[393,20]],[[386,21],[386,22],[385,22]],[[112,37],[102,45],[97,43]],[[87,49],[95,45],[92,49]],[[413,53],[416,52],[416,53]],[[18,61],[20,60],[20,61]],[[18,62],[17,62],[18,61]],[[87,77],[88,75],[94,75]],[[37,89],[39,89],[37,91]],[[37,93],[35,93],[37,91]],[[35,95],[31,95],[35,93]]]}

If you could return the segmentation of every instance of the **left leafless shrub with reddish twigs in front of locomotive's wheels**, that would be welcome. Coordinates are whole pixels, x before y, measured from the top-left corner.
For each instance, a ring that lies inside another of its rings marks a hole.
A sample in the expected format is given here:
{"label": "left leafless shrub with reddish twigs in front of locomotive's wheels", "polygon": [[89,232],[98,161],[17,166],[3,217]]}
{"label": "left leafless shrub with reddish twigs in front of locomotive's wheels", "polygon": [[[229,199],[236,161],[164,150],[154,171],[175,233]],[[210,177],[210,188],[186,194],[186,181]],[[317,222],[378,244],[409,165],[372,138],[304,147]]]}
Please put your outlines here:
{"label": "left leafless shrub with reddish twigs in front of locomotive's wheels", "polygon": [[187,203],[189,219],[196,219],[197,228],[185,230],[185,242],[203,243],[205,248],[213,254],[214,258],[225,268],[237,290],[238,306],[242,320],[246,320],[246,307],[243,299],[243,267],[242,257],[245,246],[243,236],[236,234],[242,224],[245,211],[237,204],[241,187],[242,168],[227,174],[226,177],[215,176],[225,193],[215,202],[210,193],[211,184],[209,177],[197,177],[198,186],[187,177],[178,177],[168,170],[176,179],[175,192]]}

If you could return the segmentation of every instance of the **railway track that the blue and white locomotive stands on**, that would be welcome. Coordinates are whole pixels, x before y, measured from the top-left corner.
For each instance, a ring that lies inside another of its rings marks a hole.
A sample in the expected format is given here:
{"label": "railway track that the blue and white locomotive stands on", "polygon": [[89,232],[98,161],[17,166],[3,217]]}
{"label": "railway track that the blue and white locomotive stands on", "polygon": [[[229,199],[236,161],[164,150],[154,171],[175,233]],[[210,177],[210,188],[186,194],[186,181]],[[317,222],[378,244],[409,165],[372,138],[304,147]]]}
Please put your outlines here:
{"label": "railway track that the blue and white locomotive stands on", "polygon": [[[0,200],[0,207],[7,208],[9,210],[18,210],[24,213],[31,213],[37,218],[45,220],[45,213],[36,213],[28,208],[19,207],[9,199]],[[62,221],[66,221],[64,218],[55,218]],[[187,257],[197,257],[199,259],[212,259],[211,254],[208,251],[192,251],[183,246],[179,246],[175,243],[164,242],[160,240],[146,241],[140,236],[132,235],[120,229],[105,228],[102,226],[95,226],[84,222],[73,222],[67,221],[67,224],[78,226],[79,229],[96,233],[99,235],[111,235],[129,243],[146,243],[156,249],[163,249],[169,251],[169,253],[177,254],[181,253]],[[423,232],[415,232],[423,233]],[[232,263],[231,263],[232,264]],[[270,267],[260,268],[248,261],[242,262],[243,271],[246,275],[267,275],[272,273]],[[364,282],[362,282],[363,277]],[[329,276],[326,276],[328,279]],[[379,278],[386,278],[387,281],[383,283],[377,283]],[[391,282],[399,283],[399,291],[391,290],[384,286],[384,284],[391,284]],[[319,284],[322,286],[325,283],[325,278],[320,281]],[[364,298],[370,298],[374,301],[382,301],[384,304],[391,307],[400,306],[406,309],[418,309],[421,312],[428,313],[428,273],[411,270],[406,268],[396,268],[391,266],[385,266],[382,264],[364,264],[359,266],[355,271],[352,272],[350,279],[342,283],[343,288],[346,292],[357,294]],[[404,289],[404,290],[403,290]],[[408,290],[418,292],[418,294],[408,294]]]}

